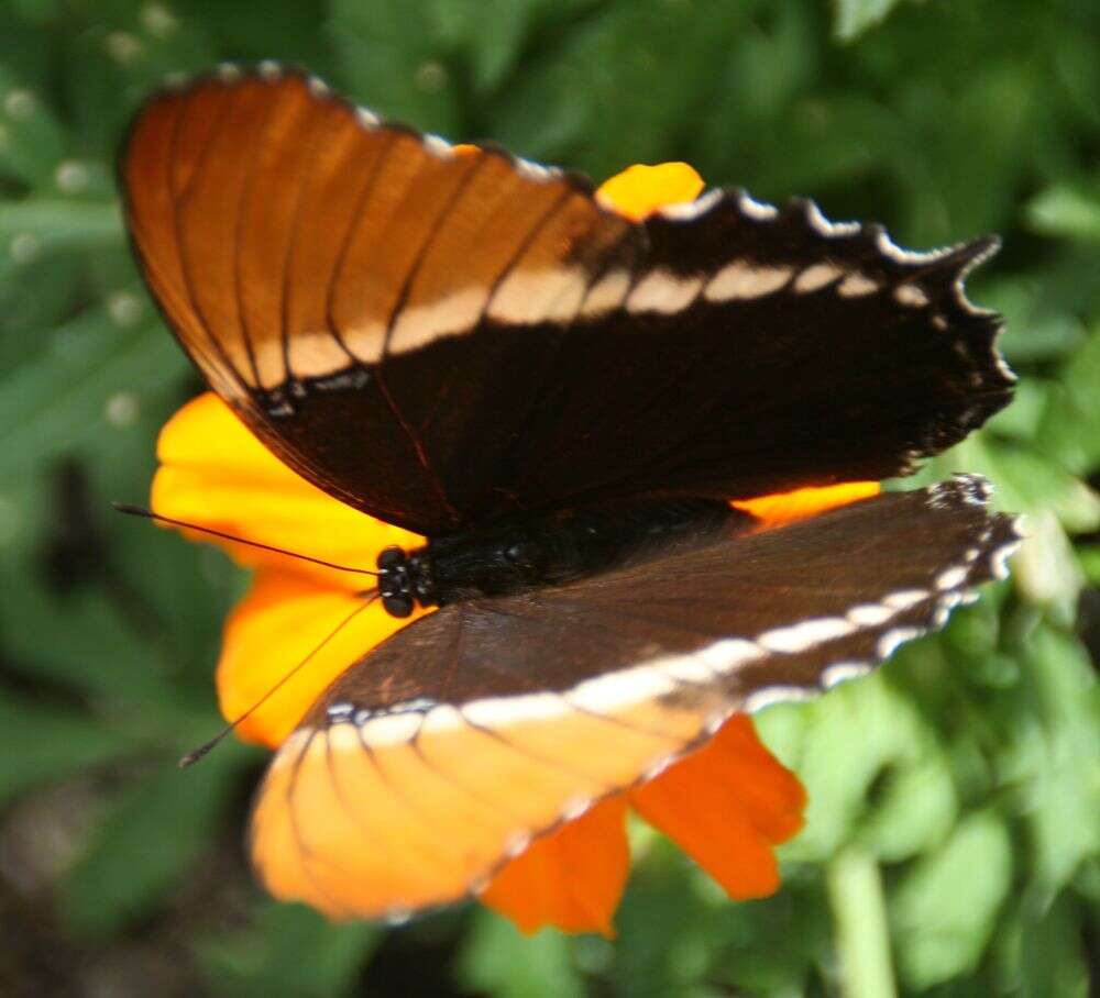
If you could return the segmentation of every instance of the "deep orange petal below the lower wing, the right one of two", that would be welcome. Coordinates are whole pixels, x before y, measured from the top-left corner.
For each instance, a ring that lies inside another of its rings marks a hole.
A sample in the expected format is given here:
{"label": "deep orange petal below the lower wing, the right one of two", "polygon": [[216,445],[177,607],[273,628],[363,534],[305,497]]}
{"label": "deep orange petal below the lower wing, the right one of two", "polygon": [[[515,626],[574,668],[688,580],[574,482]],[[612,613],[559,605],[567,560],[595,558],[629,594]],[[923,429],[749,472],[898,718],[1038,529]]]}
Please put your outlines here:
{"label": "deep orange petal below the lower wing, the right one of two", "polygon": [[772,845],[802,827],[805,791],[734,714],[698,752],[630,791],[635,810],[735,899],[779,887]]}

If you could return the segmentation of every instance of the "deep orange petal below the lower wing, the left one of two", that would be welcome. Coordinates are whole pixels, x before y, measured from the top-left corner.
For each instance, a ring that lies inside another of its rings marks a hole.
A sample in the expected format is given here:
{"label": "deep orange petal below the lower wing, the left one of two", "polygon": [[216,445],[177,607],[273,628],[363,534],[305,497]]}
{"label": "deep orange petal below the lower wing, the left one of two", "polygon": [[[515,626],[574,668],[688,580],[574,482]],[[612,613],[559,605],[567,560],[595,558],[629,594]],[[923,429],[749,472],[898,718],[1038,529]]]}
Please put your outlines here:
{"label": "deep orange petal below the lower wing, the left one of two", "polygon": [[493,878],[481,900],[522,932],[554,925],[613,936],[612,916],[630,867],[625,819],[624,796],[601,801],[532,842]]}

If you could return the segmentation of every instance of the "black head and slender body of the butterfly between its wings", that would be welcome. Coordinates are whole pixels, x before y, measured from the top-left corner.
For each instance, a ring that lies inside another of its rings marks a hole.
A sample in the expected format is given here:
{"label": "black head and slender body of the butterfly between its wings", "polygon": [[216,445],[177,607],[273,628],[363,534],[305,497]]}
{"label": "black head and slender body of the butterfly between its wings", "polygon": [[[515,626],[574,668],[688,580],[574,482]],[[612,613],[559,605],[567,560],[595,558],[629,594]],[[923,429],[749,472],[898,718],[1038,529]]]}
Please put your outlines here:
{"label": "black head and slender body of the butterfly between its wings", "polygon": [[531,517],[470,528],[405,552],[378,555],[378,591],[386,611],[447,606],[571,583],[693,541],[743,514],[710,499],[656,499]]}

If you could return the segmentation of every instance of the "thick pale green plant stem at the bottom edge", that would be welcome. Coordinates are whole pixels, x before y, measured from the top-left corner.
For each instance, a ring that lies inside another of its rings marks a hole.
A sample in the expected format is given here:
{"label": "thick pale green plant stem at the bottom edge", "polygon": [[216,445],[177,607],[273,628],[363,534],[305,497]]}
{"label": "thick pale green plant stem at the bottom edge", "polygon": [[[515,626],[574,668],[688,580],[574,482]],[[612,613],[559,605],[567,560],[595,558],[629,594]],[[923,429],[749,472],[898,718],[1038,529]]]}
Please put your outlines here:
{"label": "thick pale green plant stem at the bottom edge", "polygon": [[875,857],[842,850],[826,872],[845,998],[897,998],[882,878]]}

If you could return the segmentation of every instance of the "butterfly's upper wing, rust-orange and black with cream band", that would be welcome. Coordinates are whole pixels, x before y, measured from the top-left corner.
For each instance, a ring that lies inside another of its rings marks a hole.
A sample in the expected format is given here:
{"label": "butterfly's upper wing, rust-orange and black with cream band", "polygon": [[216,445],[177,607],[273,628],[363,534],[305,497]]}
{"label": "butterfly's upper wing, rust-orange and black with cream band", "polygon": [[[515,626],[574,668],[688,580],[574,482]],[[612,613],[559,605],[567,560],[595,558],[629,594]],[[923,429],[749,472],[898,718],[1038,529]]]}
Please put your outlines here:
{"label": "butterfly's upper wing, rust-orange and black with cream band", "polygon": [[901,474],[1009,397],[961,291],[990,241],[906,254],[730,191],[634,224],[277,67],[151,100],[120,177],[211,386],[309,480],[421,534]]}

